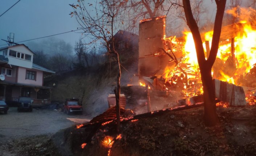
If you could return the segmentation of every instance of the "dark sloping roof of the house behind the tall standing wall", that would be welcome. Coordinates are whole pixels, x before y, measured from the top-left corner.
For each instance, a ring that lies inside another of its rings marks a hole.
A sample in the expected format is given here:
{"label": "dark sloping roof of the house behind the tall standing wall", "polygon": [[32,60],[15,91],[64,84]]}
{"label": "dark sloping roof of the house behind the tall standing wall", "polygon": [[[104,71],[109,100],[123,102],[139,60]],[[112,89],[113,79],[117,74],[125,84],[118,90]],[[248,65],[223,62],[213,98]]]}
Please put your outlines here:
{"label": "dark sloping roof of the house behind the tall standing wall", "polygon": [[134,33],[119,30],[115,35],[114,38],[121,38],[124,41],[132,42],[133,44],[139,44],[139,35],[136,35]]}

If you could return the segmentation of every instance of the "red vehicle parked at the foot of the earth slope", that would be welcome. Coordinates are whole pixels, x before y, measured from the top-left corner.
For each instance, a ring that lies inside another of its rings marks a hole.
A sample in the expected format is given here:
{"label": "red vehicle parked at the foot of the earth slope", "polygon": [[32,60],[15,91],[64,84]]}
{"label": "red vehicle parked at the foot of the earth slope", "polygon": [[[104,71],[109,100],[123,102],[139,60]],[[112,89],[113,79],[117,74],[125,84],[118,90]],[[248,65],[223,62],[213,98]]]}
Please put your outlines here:
{"label": "red vehicle parked at the foot of the earth slope", "polygon": [[71,114],[74,112],[83,113],[83,107],[79,103],[78,99],[75,98],[67,98],[64,104],[64,113]]}

